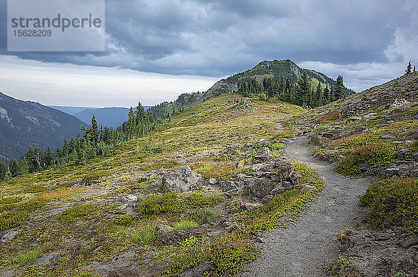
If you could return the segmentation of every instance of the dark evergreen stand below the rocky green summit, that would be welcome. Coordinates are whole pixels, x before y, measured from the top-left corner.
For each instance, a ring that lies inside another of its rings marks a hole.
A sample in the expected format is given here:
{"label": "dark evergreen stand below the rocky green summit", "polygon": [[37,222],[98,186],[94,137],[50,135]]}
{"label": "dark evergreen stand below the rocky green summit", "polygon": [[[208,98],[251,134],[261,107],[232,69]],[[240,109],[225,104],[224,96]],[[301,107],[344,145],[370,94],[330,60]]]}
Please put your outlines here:
{"label": "dark evergreen stand below the rocky green summit", "polygon": [[336,87],[323,88],[320,82],[313,87],[307,73],[302,73],[294,85],[285,77],[273,75],[242,77],[238,80],[238,91],[244,96],[259,96],[261,100],[277,98],[303,107],[320,107],[347,96],[341,75],[336,78]]}

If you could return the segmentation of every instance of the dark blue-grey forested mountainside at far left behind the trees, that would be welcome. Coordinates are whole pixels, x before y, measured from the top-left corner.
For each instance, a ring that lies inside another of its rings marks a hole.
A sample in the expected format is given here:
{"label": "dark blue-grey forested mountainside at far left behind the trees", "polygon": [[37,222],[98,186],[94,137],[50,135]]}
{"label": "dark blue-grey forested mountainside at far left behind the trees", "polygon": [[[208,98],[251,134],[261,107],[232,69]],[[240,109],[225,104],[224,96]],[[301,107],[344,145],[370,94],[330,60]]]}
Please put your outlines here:
{"label": "dark blue-grey forested mountainside at far left behind the trees", "polygon": [[86,123],[70,114],[0,93],[0,160],[18,157],[29,146],[52,149],[82,133]]}

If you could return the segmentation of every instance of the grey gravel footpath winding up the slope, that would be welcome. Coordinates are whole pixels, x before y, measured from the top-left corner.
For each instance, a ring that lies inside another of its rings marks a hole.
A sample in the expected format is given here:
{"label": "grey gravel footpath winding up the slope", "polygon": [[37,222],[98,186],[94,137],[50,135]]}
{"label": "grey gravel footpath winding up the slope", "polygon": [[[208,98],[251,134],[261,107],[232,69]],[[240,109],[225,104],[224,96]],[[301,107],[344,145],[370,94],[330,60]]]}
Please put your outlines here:
{"label": "grey gravel footpath winding up the slope", "polygon": [[288,144],[285,156],[318,172],[325,188],[295,225],[264,234],[261,255],[242,276],[320,276],[326,262],[339,255],[336,234],[353,229],[351,219],[359,216],[357,203],[370,177],[336,173],[332,165],[312,157],[307,137]]}

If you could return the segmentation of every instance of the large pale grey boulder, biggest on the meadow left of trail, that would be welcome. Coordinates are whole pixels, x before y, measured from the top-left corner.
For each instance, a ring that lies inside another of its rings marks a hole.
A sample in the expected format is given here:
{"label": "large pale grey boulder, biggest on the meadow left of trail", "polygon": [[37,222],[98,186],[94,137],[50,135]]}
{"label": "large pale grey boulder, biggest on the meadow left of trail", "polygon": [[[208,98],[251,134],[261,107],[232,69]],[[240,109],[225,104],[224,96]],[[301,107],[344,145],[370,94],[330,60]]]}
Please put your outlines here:
{"label": "large pale grey boulder, biggest on the meadow left of trail", "polygon": [[192,171],[188,165],[180,167],[162,177],[162,190],[164,192],[176,191],[183,193],[190,189],[202,178],[201,174]]}

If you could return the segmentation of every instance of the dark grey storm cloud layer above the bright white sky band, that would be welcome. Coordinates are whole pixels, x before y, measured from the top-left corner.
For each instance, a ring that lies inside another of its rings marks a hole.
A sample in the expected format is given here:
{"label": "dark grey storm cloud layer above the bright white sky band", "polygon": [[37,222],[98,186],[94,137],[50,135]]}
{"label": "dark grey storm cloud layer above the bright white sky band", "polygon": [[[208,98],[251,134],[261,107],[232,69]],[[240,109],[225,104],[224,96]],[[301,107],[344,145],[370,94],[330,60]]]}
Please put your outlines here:
{"label": "dark grey storm cloud layer above the bright white sky band", "polygon": [[[1,18],[6,18],[1,0]],[[265,59],[334,64],[411,59],[417,3],[387,1],[116,1],[104,53],[7,53],[25,59],[220,76]],[[408,47],[405,45],[409,45]],[[416,50],[416,48],[415,48]]]}

